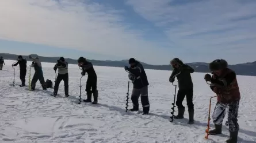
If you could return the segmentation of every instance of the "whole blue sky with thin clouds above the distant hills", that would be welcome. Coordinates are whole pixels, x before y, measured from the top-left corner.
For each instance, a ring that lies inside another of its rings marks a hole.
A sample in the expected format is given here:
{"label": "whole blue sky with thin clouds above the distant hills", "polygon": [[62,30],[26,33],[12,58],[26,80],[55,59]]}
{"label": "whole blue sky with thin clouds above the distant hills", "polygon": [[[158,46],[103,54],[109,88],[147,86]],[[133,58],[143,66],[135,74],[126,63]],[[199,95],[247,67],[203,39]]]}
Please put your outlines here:
{"label": "whole blue sky with thin clouds above the distant hills", "polygon": [[255,7],[251,0],[0,1],[0,53],[253,62]]}

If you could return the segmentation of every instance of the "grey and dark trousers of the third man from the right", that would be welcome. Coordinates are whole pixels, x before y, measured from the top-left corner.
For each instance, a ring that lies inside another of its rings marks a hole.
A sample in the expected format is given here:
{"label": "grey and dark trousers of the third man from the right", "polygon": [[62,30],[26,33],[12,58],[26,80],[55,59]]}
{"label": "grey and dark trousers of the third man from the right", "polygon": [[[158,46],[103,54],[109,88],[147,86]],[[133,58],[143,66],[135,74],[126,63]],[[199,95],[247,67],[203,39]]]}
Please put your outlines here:
{"label": "grey and dark trousers of the third man from the right", "polygon": [[141,89],[133,88],[131,97],[133,106],[139,106],[139,97],[142,102],[143,112],[148,113],[150,111],[150,103],[148,101],[148,86],[144,86]]}

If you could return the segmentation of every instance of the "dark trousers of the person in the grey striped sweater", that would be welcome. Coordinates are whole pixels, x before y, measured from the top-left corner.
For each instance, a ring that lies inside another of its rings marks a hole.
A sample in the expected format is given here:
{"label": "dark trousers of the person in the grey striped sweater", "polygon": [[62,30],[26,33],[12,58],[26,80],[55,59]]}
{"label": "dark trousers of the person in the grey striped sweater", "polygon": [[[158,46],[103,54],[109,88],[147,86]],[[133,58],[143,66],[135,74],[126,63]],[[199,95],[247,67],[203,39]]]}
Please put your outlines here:
{"label": "dark trousers of the person in the grey striped sweater", "polygon": [[61,81],[64,81],[64,90],[65,95],[68,95],[68,73],[66,74],[58,74],[55,85],[54,85],[54,93],[57,94],[59,90],[59,85]]}

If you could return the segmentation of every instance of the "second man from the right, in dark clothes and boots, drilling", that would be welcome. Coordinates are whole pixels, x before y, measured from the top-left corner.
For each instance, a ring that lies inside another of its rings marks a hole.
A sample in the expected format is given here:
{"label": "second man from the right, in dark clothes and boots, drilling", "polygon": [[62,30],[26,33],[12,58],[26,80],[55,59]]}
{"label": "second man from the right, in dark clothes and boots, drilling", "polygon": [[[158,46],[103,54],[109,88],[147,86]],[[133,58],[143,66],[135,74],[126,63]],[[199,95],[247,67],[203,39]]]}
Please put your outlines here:
{"label": "second man from the right, in dark clothes and boots, drilling", "polygon": [[186,96],[186,102],[188,105],[189,122],[188,124],[194,124],[194,104],[193,104],[193,82],[191,73],[194,73],[194,69],[189,65],[184,64],[180,59],[174,58],[170,62],[173,66],[173,72],[169,78],[171,83],[174,82],[175,75],[178,79],[178,94],[176,105],[178,107],[178,115],[174,116],[176,119],[184,118],[185,107],[182,102]]}

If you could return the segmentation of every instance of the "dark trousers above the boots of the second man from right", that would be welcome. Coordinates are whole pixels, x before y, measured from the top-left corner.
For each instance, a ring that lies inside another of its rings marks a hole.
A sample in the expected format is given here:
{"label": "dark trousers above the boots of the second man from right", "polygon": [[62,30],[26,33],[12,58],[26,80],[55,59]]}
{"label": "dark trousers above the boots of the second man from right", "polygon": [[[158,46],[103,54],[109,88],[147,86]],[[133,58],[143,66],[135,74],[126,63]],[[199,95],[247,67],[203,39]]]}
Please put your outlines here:
{"label": "dark trousers above the boots of the second man from right", "polygon": [[189,109],[194,109],[193,104],[193,88],[192,89],[181,89],[178,90],[176,105],[178,109],[185,109],[182,105],[184,98],[186,97],[186,102]]}

